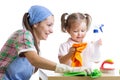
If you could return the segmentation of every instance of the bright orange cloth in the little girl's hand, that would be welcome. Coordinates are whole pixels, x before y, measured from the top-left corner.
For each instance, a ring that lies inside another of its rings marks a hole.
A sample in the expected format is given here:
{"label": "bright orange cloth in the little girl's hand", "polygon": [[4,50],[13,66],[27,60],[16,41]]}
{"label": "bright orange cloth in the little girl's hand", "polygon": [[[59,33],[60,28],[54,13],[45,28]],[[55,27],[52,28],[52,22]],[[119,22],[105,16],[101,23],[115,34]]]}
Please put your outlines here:
{"label": "bright orange cloth in the little girl's hand", "polygon": [[82,57],[81,53],[86,48],[87,43],[73,44],[72,47],[76,49],[75,54],[71,57],[72,67],[80,67],[82,66]]}

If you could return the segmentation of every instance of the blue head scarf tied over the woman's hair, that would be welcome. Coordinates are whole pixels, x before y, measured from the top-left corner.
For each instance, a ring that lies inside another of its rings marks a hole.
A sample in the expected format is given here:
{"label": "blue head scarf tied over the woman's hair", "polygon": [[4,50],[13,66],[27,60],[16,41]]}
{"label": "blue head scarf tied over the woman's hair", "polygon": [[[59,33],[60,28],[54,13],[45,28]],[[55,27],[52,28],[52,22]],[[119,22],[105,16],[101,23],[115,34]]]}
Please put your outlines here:
{"label": "blue head scarf tied over the woman's hair", "polygon": [[30,10],[28,11],[28,13],[30,17],[29,18],[30,26],[38,22],[41,22],[45,20],[47,17],[49,17],[50,15],[52,15],[50,10],[48,10],[47,8],[43,6],[38,6],[38,5],[32,6]]}

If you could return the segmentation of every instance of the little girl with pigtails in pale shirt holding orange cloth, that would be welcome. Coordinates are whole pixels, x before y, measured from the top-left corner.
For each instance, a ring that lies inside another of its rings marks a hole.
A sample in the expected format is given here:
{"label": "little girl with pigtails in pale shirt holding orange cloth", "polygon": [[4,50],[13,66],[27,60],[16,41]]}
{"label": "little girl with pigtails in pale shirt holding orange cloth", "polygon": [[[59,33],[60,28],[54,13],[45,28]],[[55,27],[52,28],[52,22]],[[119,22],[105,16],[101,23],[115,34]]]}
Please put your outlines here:
{"label": "little girl with pigtails in pale shirt holding orange cloth", "polygon": [[[58,58],[60,63],[72,66],[72,57],[75,55],[76,49],[73,44],[84,43],[83,39],[86,36],[91,24],[91,16],[89,14],[83,13],[64,13],[61,16],[61,29],[63,32],[67,32],[71,37],[59,47]],[[101,45],[101,39],[96,41]],[[95,55],[93,53],[93,43],[87,43],[85,49],[83,49],[80,56],[82,57],[82,66],[91,67],[91,56]]]}

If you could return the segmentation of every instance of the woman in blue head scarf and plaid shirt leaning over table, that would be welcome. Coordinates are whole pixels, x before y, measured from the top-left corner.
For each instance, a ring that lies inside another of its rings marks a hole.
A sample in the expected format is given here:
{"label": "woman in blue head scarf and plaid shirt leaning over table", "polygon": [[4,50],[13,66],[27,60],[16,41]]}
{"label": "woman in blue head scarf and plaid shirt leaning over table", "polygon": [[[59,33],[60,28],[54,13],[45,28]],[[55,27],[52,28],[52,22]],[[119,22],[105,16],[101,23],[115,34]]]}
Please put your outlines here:
{"label": "woman in blue head scarf and plaid shirt leaning over table", "polygon": [[15,31],[0,51],[0,80],[29,80],[38,69],[58,73],[89,71],[89,68],[72,68],[39,56],[40,40],[53,33],[54,16],[47,8],[34,5],[23,16],[24,29]]}

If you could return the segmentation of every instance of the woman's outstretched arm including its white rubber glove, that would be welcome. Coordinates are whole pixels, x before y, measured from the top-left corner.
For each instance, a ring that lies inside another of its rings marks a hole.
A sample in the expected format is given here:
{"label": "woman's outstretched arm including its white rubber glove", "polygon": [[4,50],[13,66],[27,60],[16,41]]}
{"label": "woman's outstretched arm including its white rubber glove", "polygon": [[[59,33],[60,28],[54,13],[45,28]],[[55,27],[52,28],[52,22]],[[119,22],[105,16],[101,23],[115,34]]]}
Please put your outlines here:
{"label": "woman's outstretched arm including its white rubber glove", "polygon": [[24,55],[30,61],[30,63],[37,68],[52,70],[58,73],[78,72],[78,71],[86,71],[88,74],[91,73],[90,68],[85,68],[85,67],[74,67],[73,68],[65,64],[57,64],[43,57],[40,57],[34,51],[25,52]]}

